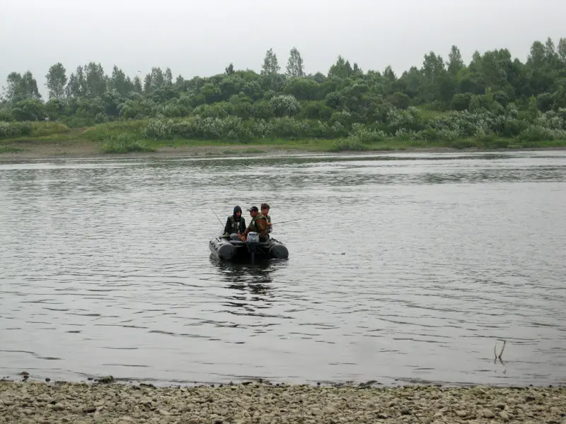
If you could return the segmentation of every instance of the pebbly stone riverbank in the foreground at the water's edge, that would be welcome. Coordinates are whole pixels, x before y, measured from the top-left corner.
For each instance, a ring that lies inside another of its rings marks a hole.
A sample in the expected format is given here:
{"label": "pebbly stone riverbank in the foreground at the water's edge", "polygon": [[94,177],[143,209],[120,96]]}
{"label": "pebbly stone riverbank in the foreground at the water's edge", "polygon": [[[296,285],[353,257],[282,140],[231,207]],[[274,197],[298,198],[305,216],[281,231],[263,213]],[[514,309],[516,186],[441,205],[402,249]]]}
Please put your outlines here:
{"label": "pebbly stone riverbank in the foreground at the water's edge", "polygon": [[565,387],[0,382],[0,423],[548,423]]}

